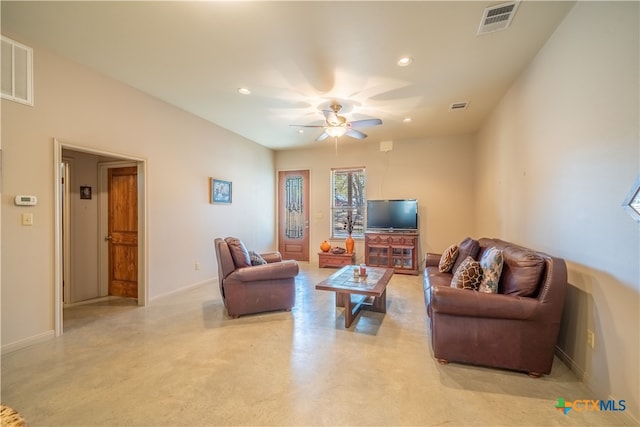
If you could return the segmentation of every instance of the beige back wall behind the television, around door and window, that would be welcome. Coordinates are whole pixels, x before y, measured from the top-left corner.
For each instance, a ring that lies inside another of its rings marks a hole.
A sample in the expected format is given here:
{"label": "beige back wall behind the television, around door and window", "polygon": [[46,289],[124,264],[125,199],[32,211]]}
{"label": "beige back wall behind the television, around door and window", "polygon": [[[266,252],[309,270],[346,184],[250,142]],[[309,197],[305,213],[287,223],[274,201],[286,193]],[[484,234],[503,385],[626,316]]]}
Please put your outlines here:
{"label": "beige back wall behind the television, around door and window", "polygon": [[[317,147],[276,152],[278,170],[310,171],[311,261],[317,263],[320,243],[330,236],[331,169],[364,166],[368,199],[418,199],[420,261],[425,252],[442,251],[473,234],[475,173],[471,136],[394,141],[381,152],[379,141],[319,142]],[[332,244],[344,247],[344,241]],[[358,261],[364,257],[356,241]],[[421,264],[421,267],[422,264]]]}

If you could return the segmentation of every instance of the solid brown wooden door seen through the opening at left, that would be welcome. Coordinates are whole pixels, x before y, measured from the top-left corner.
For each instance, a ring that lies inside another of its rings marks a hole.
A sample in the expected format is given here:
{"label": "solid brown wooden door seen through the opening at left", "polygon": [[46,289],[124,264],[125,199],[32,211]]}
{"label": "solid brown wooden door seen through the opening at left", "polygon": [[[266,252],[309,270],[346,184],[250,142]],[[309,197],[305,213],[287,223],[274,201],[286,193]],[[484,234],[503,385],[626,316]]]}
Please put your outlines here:
{"label": "solid brown wooden door seen through the opening at left", "polygon": [[138,172],[109,169],[109,295],[138,298]]}

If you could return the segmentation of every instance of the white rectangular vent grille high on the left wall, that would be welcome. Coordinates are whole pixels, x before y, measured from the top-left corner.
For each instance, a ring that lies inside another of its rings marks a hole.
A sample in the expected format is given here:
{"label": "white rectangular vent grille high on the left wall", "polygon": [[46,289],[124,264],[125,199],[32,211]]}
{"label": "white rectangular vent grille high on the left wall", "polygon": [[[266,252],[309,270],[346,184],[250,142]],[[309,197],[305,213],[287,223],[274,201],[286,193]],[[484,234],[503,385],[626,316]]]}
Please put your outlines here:
{"label": "white rectangular vent grille high on the left wall", "polygon": [[33,50],[2,36],[2,97],[33,105]]}

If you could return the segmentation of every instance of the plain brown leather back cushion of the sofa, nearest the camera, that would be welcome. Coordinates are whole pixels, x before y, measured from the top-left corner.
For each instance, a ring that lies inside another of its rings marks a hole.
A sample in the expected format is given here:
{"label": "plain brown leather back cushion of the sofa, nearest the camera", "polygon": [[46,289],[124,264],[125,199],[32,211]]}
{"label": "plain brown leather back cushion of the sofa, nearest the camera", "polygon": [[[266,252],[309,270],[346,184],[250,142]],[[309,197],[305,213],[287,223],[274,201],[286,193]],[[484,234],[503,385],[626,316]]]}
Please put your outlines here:
{"label": "plain brown leather back cushion of the sofa, nearest the camera", "polygon": [[502,251],[504,265],[500,279],[500,293],[505,295],[534,297],[538,293],[544,260],[535,252],[514,246]]}

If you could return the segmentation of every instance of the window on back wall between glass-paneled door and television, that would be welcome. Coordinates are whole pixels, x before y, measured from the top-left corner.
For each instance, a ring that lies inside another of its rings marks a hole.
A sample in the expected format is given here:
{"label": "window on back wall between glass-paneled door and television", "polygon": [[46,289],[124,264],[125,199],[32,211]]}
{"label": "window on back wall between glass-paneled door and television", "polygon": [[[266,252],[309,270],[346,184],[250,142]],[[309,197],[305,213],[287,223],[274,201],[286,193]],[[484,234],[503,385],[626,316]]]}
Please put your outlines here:
{"label": "window on back wall between glass-paneled door and television", "polygon": [[365,188],[364,168],[331,171],[331,237],[347,237],[345,224],[349,216],[353,223],[351,235],[364,236]]}

